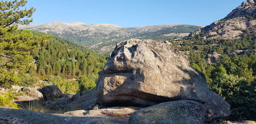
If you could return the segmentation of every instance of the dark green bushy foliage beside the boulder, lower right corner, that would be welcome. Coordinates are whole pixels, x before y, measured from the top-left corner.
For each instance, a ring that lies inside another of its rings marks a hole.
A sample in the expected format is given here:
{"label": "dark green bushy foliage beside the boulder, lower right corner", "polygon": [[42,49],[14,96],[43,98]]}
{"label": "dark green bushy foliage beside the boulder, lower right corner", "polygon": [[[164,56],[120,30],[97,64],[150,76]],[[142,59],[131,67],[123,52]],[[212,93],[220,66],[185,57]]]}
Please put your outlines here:
{"label": "dark green bushy foliage beside the boulder, lower right corner", "polygon": [[231,106],[230,120],[256,120],[256,82],[224,74],[209,84]]}

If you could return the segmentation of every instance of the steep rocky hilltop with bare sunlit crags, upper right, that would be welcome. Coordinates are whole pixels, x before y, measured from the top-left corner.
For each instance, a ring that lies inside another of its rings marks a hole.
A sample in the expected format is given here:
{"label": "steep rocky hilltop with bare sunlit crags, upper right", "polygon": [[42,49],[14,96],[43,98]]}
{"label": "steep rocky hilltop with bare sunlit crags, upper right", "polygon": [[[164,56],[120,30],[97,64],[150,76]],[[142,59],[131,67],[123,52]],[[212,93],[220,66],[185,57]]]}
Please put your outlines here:
{"label": "steep rocky hilltop with bare sunlit crags, upper right", "polygon": [[204,38],[239,39],[256,28],[256,0],[247,0],[224,19],[215,21],[196,32]]}

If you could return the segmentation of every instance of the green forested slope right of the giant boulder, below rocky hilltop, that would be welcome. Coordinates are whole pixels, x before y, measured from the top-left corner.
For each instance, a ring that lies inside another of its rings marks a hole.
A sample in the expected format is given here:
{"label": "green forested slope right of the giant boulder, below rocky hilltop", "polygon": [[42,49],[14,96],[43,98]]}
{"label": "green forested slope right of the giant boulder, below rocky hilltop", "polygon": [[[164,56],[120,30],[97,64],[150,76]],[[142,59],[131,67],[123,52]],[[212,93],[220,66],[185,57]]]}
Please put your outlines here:
{"label": "green forested slope right of the giant boulder, below rocky hilltop", "polygon": [[[229,120],[256,120],[256,31],[245,30],[241,39],[204,39],[201,34],[170,39],[172,45],[189,56],[193,68],[204,73],[210,89],[230,105]],[[231,51],[244,50],[239,55]],[[206,59],[216,52],[221,57],[212,64]]]}

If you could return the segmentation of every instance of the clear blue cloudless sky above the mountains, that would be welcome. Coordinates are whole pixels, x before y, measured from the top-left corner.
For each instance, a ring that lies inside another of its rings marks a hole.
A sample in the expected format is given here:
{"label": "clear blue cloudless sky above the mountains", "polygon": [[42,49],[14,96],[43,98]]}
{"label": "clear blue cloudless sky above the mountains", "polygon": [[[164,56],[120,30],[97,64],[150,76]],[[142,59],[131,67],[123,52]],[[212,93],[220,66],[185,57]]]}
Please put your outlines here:
{"label": "clear blue cloudless sky above the mountains", "polygon": [[160,24],[209,25],[246,0],[27,0],[32,24],[108,23],[122,27]]}

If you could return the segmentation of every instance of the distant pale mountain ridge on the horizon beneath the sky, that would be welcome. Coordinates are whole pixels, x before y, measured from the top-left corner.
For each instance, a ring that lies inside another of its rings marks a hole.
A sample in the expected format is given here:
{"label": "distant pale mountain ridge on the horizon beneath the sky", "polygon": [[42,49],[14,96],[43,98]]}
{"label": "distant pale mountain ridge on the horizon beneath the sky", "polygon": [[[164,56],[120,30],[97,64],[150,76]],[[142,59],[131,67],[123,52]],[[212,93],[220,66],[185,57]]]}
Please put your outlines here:
{"label": "distant pale mountain ridge on the horizon beneath the sky", "polygon": [[141,27],[121,27],[113,24],[63,23],[53,21],[38,25],[20,25],[19,29],[30,29],[52,34],[78,42],[101,53],[113,50],[115,44],[125,39],[163,40],[189,35],[203,26],[164,24]]}

